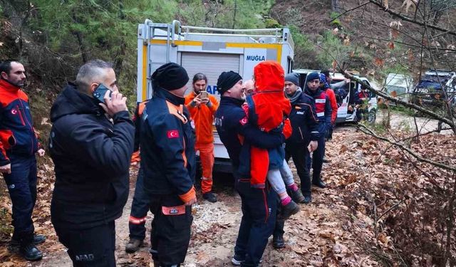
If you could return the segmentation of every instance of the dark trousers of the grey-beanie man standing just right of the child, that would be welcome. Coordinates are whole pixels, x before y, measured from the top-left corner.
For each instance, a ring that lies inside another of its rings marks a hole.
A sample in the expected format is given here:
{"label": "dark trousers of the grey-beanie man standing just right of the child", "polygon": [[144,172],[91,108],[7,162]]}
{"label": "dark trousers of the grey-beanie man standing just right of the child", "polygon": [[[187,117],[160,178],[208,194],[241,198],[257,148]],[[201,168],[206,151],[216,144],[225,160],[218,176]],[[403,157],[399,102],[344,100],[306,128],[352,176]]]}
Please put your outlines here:
{"label": "dark trousers of the grey-beanie man standing just right of the child", "polygon": [[[289,144],[285,146],[285,159],[289,161],[290,157],[293,158],[294,166],[298,172],[299,179],[301,180],[301,192],[306,197],[311,196],[311,176],[309,168],[307,167],[307,160],[309,159],[309,144]],[[319,145],[319,144],[318,144]]]}

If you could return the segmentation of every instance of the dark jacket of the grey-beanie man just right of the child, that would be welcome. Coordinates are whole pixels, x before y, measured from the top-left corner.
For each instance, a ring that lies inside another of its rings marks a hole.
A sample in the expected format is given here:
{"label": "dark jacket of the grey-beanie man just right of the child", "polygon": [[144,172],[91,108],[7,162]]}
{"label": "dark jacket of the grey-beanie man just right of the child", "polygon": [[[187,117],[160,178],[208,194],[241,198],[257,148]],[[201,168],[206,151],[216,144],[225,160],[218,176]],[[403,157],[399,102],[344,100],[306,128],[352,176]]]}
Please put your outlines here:
{"label": "dark jacket of the grey-beanie man just right of the child", "polygon": [[316,141],[320,136],[318,132],[318,118],[316,117],[314,99],[305,93],[291,102],[289,116],[293,133],[286,145],[308,144]]}

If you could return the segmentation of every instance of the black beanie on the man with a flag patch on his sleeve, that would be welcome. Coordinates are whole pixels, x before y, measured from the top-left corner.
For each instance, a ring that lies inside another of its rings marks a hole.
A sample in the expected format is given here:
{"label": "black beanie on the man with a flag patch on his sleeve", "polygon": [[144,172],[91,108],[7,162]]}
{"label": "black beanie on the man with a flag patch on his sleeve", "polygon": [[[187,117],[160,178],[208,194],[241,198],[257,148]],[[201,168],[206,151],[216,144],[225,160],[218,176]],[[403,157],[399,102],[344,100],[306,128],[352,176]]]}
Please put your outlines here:
{"label": "black beanie on the man with a flag patch on his sleeve", "polygon": [[168,91],[182,88],[189,80],[187,70],[176,63],[166,63],[160,66],[151,78],[153,83]]}

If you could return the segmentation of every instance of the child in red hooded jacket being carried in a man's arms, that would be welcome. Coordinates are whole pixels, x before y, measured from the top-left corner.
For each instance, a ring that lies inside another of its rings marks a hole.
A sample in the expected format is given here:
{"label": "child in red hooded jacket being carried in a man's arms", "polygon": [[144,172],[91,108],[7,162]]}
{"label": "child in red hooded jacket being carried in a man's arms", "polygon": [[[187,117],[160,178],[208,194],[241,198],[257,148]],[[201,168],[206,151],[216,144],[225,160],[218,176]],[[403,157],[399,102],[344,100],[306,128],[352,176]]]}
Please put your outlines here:
{"label": "child in red hooded jacket being carried in a man's arms", "polygon": [[[289,137],[291,125],[287,117],[291,111],[291,104],[284,95],[284,77],[284,70],[276,61],[264,61],[255,66],[255,93],[247,97],[244,110],[252,125],[257,125],[266,132],[283,131],[284,135]],[[284,206],[282,216],[287,218],[298,212],[299,207],[287,194],[286,187],[293,193],[292,196],[296,201],[301,202],[304,197],[284,160],[284,147],[273,150],[263,150],[253,146],[249,148],[252,187],[264,188],[267,178],[274,191],[279,194],[281,204]]]}

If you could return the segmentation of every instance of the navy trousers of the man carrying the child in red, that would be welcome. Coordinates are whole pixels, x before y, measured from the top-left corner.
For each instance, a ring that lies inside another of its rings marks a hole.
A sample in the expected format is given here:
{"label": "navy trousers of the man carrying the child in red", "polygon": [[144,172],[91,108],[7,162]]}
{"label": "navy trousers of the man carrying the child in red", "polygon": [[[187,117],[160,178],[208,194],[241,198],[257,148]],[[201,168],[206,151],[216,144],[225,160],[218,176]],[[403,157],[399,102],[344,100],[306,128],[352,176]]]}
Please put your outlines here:
{"label": "navy trousers of the man carrying the child in red", "polygon": [[256,189],[249,179],[237,179],[236,189],[242,201],[242,220],[234,253],[244,260],[242,266],[258,266],[276,223],[277,194]]}

